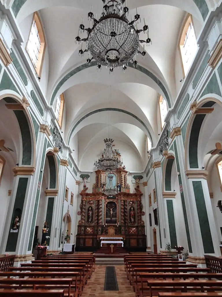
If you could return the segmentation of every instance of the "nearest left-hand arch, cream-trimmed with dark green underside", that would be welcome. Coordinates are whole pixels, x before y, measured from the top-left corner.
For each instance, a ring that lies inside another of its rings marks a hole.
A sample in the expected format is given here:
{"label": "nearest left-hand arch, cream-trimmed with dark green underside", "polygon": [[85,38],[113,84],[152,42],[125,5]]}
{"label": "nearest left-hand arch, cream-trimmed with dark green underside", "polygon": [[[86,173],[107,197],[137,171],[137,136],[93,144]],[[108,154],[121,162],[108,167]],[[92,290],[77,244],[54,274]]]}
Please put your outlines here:
{"label": "nearest left-hand arch, cream-trimmed with dark green underside", "polygon": [[[23,97],[25,98],[25,97]],[[4,99],[6,104],[12,105],[17,121],[19,123],[22,147],[19,160],[19,166],[27,165],[35,167],[36,163],[36,136],[32,118],[25,105],[25,99],[15,94],[6,93],[0,96],[0,100]],[[23,100],[24,101],[23,101]],[[13,108],[14,107],[14,108]],[[31,143],[31,146],[29,145]],[[28,145],[27,145],[28,144]]]}

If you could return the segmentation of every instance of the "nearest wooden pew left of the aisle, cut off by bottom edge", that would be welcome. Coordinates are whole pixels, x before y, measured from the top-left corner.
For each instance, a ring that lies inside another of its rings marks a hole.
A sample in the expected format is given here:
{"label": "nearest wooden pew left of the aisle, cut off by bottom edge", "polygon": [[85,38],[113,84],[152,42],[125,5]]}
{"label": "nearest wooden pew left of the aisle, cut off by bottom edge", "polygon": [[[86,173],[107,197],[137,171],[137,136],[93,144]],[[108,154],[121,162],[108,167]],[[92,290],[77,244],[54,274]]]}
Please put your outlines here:
{"label": "nearest wooden pew left of the aisle, cut off by bottom edge", "polygon": [[1,297],[64,297],[64,290],[0,290]]}

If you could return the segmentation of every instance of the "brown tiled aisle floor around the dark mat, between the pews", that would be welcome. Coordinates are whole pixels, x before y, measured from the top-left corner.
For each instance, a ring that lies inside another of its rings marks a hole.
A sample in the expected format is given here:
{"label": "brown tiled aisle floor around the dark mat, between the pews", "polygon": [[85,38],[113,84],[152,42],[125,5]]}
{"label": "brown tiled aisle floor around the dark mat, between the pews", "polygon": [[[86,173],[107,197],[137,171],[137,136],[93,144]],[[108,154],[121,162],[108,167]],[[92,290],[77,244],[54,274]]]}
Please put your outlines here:
{"label": "brown tiled aisle floor around the dark mat, between the pews", "polygon": [[115,266],[119,291],[104,291],[106,266],[95,266],[95,271],[83,289],[81,297],[135,297],[135,293],[126,277],[123,265]]}

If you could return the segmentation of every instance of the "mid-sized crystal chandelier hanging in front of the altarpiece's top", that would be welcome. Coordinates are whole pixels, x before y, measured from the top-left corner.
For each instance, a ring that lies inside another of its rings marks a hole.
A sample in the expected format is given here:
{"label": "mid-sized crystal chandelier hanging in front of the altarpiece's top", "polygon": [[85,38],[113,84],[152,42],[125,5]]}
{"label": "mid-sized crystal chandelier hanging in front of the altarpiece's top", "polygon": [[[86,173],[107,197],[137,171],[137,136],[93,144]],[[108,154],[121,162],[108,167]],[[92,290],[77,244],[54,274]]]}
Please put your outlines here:
{"label": "mid-sized crystal chandelier hanging in front of the altarpiece's top", "polygon": [[107,173],[110,173],[111,171],[119,168],[122,166],[123,162],[121,162],[117,155],[115,155],[112,151],[112,143],[114,140],[112,138],[106,138],[104,139],[105,143],[105,151],[100,156],[99,160],[95,161],[94,166],[97,167],[100,170],[104,170]]}

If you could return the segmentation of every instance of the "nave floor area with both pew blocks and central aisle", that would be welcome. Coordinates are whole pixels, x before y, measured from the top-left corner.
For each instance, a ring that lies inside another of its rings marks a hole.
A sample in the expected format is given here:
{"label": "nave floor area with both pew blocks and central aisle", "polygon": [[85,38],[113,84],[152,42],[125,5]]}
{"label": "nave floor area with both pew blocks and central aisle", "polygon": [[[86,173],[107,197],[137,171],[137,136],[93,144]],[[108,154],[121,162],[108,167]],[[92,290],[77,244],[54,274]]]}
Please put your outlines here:
{"label": "nave floor area with both pew blocks and central aisle", "polygon": [[[1,265],[0,296],[222,296],[220,258],[206,256],[207,267],[197,267],[179,255],[126,254],[124,265],[115,266],[98,265],[87,252],[39,255],[21,267]],[[115,258],[106,257],[112,265]]]}

